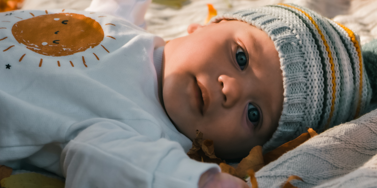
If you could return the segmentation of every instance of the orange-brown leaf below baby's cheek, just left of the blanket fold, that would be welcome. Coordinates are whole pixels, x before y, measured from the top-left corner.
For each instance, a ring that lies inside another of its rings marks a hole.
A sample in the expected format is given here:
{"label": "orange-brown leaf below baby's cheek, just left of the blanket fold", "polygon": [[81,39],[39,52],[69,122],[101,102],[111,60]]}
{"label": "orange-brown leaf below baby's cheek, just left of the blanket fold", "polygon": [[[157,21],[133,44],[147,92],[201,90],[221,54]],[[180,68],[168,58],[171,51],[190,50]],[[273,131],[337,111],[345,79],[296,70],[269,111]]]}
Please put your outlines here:
{"label": "orange-brown leaf below baby's cheek, just left of the blanket fold", "polygon": [[247,176],[248,170],[252,169],[254,171],[258,171],[262,167],[264,167],[262,146],[255,146],[250,150],[249,155],[242,159],[242,161],[238,164],[236,171],[241,178],[244,178]]}

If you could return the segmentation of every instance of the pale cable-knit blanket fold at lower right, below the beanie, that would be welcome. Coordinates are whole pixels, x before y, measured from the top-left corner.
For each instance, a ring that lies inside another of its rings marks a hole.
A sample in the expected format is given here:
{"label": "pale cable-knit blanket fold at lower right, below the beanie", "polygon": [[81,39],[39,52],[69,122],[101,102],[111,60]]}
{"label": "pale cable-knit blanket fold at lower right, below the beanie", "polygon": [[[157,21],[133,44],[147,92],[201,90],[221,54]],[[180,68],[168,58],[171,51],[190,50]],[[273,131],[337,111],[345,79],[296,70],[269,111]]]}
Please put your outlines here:
{"label": "pale cable-knit blanket fold at lower right, below the beanie", "polygon": [[[314,136],[257,171],[259,188],[377,187],[377,110]],[[250,182],[250,181],[249,181]]]}

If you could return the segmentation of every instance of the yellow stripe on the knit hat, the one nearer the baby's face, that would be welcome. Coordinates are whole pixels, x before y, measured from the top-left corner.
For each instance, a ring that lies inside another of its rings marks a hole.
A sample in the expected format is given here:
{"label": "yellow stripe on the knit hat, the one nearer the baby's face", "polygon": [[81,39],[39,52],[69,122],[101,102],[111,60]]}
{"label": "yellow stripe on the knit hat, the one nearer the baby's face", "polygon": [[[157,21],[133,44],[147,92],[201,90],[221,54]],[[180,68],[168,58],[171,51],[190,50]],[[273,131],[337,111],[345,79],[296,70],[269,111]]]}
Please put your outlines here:
{"label": "yellow stripe on the knit hat, the one nearer the baby's face", "polygon": [[[333,56],[331,55],[331,51],[330,51],[330,47],[329,45],[327,44],[327,41],[325,39],[325,36],[323,35],[322,31],[319,29],[317,23],[313,20],[313,18],[308,14],[306,13],[305,11],[297,8],[297,7],[294,7],[294,6],[291,6],[291,5],[287,5],[287,4],[283,4],[283,3],[279,3],[278,5],[283,5],[283,6],[287,6],[287,7],[290,7],[290,8],[294,8],[296,9],[297,11],[300,11],[302,12],[302,14],[304,14],[306,17],[309,18],[309,20],[311,21],[311,23],[316,27],[316,29],[318,30],[318,33],[319,35],[321,35],[321,39],[323,41],[323,45],[325,45],[326,47],[326,51],[328,53],[328,57],[329,57],[329,62],[330,62],[330,68],[331,68],[331,83],[333,83],[333,93],[332,93],[332,96],[333,96],[333,99],[331,100],[331,108],[330,108],[330,115],[329,115],[329,118],[327,119],[327,123],[326,123],[326,126],[325,126],[325,130],[328,129],[328,126],[329,126],[329,123],[331,121],[331,118],[333,117],[333,114],[334,114],[334,106],[335,106],[335,89],[336,89],[336,83],[335,83],[335,70],[334,70],[334,62],[333,62]],[[314,37],[314,36],[313,36]],[[325,73],[323,73],[325,74]],[[322,112],[323,113],[323,112]]]}

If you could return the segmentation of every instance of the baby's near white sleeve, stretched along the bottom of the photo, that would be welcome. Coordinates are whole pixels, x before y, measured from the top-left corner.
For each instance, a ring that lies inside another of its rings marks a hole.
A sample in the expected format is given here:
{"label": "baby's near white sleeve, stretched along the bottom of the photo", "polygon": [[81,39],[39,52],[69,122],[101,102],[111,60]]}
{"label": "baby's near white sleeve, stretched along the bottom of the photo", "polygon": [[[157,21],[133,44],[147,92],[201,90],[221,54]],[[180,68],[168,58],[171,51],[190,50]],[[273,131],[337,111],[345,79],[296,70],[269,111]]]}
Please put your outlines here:
{"label": "baby's near white sleeve, stretched along the bottom of the photo", "polygon": [[216,164],[190,159],[179,143],[152,141],[120,122],[100,121],[72,139],[61,154],[66,187],[195,188]]}

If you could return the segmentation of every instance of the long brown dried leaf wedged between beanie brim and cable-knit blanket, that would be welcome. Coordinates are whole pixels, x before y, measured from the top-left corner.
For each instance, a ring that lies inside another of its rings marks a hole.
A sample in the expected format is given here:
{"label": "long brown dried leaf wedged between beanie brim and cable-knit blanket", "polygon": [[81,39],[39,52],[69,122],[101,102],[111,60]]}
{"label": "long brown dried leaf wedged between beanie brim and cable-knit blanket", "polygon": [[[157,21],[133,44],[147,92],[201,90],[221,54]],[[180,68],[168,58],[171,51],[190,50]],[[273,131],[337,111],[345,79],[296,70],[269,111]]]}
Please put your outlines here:
{"label": "long brown dried leaf wedged between beanie brim and cable-knit blanket", "polygon": [[268,163],[272,161],[275,161],[284,153],[287,153],[288,151],[295,149],[297,146],[299,146],[300,144],[307,141],[309,138],[312,138],[313,136],[316,136],[316,135],[318,135],[316,131],[314,131],[311,128],[308,128],[308,132],[302,133],[296,139],[279,146],[278,148],[272,150],[271,152],[266,153],[263,156],[265,165],[267,165]]}

